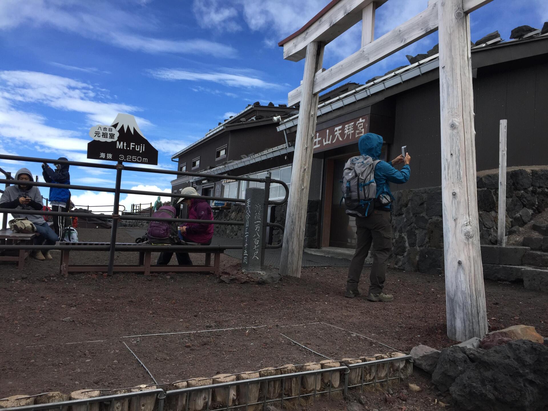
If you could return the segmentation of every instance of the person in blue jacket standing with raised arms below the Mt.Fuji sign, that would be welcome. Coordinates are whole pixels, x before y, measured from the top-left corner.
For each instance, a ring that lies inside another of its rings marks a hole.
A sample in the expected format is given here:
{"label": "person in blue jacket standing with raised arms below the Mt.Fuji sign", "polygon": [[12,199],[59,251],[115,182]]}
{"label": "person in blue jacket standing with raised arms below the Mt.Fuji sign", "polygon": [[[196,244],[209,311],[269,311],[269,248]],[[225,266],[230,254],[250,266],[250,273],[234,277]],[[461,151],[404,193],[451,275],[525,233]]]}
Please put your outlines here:
{"label": "person in blue jacket standing with raised arms below the Mt.Fuji sign", "polygon": [[[67,159],[65,157],[59,157],[59,160]],[[54,164],[55,170],[49,167],[48,164],[42,164],[42,175],[45,182],[54,182],[57,184],[70,184],[70,174],[68,173],[68,164]],[[68,212],[68,206],[70,205],[70,190],[65,188],[50,187],[49,189],[49,202],[52,205],[52,211],[56,212]],[[53,229],[55,234],[61,240],[63,233],[65,217],[61,215],[53,216]]]}

